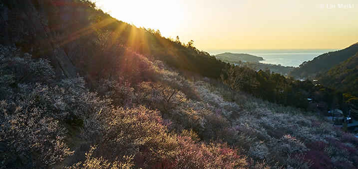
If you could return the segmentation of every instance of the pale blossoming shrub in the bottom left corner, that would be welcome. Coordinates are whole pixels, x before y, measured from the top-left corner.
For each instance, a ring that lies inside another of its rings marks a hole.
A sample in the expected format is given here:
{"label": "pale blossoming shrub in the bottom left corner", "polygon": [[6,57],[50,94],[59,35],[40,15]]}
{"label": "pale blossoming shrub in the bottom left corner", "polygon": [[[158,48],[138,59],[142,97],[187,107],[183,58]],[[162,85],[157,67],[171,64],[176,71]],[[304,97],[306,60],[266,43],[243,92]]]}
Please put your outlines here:
{"label": "pale blossoming shrub in the bottom left corner", "polygon": [[49,167],[73,154],[64,143],[66,130],[46,110],[18,106],[13,113],[1,111],[1,116],[0,141],[7,148],[0,156],[8,159],[5,166],[16,160],[26,168]]}

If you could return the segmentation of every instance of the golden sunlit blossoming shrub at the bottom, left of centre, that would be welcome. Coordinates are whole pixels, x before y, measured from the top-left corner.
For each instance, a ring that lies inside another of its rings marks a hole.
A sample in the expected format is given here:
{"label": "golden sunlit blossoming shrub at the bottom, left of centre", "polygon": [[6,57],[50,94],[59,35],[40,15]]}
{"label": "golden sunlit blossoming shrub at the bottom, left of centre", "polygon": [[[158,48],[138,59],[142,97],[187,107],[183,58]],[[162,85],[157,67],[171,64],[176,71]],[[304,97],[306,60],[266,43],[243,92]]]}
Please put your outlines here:
{"label": "golden sunlit blossoming shrub at the bottom, left of centre", "polygon": [[[144,106],[107,109],[85,120],[84,130],[98,143],[97,154],[108,160],[134,156],[136,166],[154,165],[172,159],[176,142],[166,133],[157,111]],[[111,154],[106,152],[110,151]]]}

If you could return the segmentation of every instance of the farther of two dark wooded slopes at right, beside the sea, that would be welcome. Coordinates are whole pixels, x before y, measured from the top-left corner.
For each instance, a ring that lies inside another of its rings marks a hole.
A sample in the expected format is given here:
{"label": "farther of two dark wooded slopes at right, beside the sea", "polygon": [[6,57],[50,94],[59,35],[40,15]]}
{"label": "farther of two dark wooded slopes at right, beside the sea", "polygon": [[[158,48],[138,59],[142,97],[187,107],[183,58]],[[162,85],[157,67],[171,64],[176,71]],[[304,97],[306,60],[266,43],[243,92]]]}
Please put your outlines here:
{"label": "farther of two dark wooded slopes at right, beside the sea", "polygon": [[313,79],[318,73],[330,70],[335,65],[351,58],[357,52],[358,43],[353,44],[346,49],[322,54],[312,61],[302,63],[299,68],[292,70],[289,76],[299,79]]}

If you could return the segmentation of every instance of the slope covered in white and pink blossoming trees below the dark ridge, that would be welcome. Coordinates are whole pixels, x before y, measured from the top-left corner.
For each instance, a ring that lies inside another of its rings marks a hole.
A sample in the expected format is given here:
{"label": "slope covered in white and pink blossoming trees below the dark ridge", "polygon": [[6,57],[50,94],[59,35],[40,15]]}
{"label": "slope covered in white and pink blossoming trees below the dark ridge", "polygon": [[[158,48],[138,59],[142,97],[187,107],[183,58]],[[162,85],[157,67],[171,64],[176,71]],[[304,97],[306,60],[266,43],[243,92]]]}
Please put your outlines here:
{"label": "slope covered in white and pink blossoming trees below the dark ridge", "polygon": [[[0,49],[4,168],[357,168],[352,134],[248,94],[227,101],[222,84],[187,80],[158,60],[127,55],[124,65],[138,58],[142,67],[124,69],[151,78],[134,88],[103,80],[97,93],[82,78],[47,82],[47,62]],[[13,85],[23,75],[12,70],[32,73],[32,81]]]}

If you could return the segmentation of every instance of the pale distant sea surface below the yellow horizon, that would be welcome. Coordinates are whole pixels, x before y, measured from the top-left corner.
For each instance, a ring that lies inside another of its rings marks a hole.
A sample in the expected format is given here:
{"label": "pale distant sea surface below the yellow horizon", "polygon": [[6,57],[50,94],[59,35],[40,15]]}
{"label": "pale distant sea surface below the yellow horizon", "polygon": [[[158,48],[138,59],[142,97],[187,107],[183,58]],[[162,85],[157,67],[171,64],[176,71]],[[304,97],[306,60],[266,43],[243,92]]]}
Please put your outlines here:
{"label": "pale distant sea surface below the yellow horizon", "polygon": [[340,49],[228,49],[205,51],[210,55],[217,55],[225,52],[250,54],[263,57],[265,60],[260,61],[260,63],[299,67],[299,65],[305,61],[313,60],[313,58],[324,53],[337,50]]}

